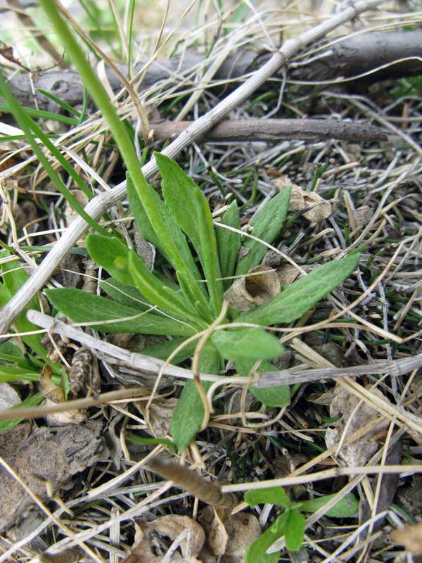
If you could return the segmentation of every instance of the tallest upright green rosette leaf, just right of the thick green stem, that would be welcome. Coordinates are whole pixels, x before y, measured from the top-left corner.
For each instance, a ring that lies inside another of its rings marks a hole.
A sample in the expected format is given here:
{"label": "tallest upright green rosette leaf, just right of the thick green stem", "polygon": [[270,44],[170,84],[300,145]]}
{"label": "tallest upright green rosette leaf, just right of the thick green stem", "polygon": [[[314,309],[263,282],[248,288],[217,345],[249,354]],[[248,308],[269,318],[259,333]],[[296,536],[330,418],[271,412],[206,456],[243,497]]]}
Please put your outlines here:
{"label": "tallest upright green rosette leaf, just right of the thick green stem", "polygon": [[154,156],[161,172],[165,203],[198,253],[212,309],[218,315],[222,307],[223,284],[217,281],[221,274],[210,206],[199,187],[174,160],[160,153],[154,153]]}

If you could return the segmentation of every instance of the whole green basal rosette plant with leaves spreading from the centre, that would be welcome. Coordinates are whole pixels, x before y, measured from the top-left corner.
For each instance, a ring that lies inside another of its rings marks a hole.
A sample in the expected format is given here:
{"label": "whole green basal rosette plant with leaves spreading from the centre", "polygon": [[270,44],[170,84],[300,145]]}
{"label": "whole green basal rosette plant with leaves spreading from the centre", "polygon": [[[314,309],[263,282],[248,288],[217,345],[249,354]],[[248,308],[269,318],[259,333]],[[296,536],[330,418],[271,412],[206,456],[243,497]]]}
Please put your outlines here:
{"label": "whole green basal rosette plant with leaves spreading from the centre", "polygon": [[[106,296],[96,296],[79,289],[46,290],[55,308],[75,322],[96,322],[94,328],[106,333],[132,332],[171,336],[168,342],[143,350],[165,359],[189,337],[204,331],[222,310],[224,291],[233,279],[260,265],[267,247],[274,243],[283,227],[288,210],[290,189],[279,192],[264,205],[250,222],[256,239],[243,237],[236,201],[222,215],[215,227],[207,200],[200,188],[170,158],[155,153],[162,177],[162,198],[148,186],[140,194],[127,175],[129,205],[139,232],[153,243],[174,270],[171,279],[146,264],[122,240],[113,236],[89,234],[87,251],[110,275],[101,282]],[[143,187],[145,189],[145,186]],[[141,203],[147,195],[147,213]],[[242,239],[245,240],[242,240]],[[241,246],[248,253],[239,253]],[[242,258],[238,258],[238,256]],[[201,372],[217,374],[225,360],[233,360],[241,375],[248,375],[252,365],[262,360],[261,371],[276,369],[268,360],[283,353],[274,334],[264,329],[297,320],[322,297],[353,272],[359,253],[332,260],[283,289],[267,304],[239,314],[229,309],[222,324],[236,320],[255,327],[215,331],[200,355]],[[121,320],[118,320],[121,319]],[[187,360],[195,343],[186,346],[175,362]],[[210,383],[203,381],[205,390]],[[250,387],[257,400],[269,406],[290,403],[290,388]],[[172,438],[179,450],[196,435],[203,422],[203,403],[196,385],[187,381],[172,419]]]}

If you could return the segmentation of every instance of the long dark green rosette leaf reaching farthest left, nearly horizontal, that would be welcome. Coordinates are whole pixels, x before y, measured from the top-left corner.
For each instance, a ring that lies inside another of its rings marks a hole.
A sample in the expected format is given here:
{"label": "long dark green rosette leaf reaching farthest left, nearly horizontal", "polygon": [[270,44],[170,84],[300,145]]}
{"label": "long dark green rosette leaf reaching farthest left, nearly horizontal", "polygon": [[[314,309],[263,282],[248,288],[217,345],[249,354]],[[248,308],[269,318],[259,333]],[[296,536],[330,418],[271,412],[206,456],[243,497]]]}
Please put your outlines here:
{"label": "long dark green rosette leaf reaching farthest left, nearly horizontal", "polygon": [[[135,332],[139,334],[162,334],[192,336],[195,329],[188,323],[166,316],[158,317],[151,313],[120,305],[105,297],[92,295],[80,289],[46,289],[51,303],[75,322],[98,322],[94,328],[103,332]],[[125,317],[130,320],[115,321]],[[106,322],[115,321],[115,322]]]}

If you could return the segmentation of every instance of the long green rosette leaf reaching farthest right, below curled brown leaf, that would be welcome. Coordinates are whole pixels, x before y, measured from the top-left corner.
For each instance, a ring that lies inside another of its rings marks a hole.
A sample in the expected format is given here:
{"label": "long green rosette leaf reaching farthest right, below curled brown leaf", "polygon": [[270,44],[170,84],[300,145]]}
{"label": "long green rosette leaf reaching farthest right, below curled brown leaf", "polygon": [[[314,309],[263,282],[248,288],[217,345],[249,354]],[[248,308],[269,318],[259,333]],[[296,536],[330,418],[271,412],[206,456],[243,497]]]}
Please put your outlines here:
{"label": "long green rosette leaf reaching farthest right, below curled brown leaf", "polygon": [[294,281],[266,305],[260,305],[237,317],[238,322],[256,324],[288,323],[305,312],[352,274],[359,262],[359,252],[324,264],[305,277]]}

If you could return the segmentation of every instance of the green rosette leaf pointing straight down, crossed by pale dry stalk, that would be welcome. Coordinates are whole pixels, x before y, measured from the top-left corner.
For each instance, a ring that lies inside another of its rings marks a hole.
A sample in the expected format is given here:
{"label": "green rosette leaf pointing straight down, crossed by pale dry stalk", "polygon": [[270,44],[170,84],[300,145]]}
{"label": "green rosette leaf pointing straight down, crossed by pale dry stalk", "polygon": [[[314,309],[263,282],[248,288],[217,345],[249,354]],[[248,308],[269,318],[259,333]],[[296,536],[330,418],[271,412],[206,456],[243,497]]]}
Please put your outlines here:
{"label": "green rosette leaf pointing straight down, crossed by pale dry stalk", "polygon": [[[207,345],[200,356],[199,369],[203,373],[215,374],[219,370],[220,361],[217,350],[213,346]],[[205,392],[212,385],[211,381],[201,381],[201,383]],[[203,417],[203,402],[195,382],[189,379],[184,384],[172,418],[172,438],[180,452],[183,452],[195,437],[203,422]]]}

